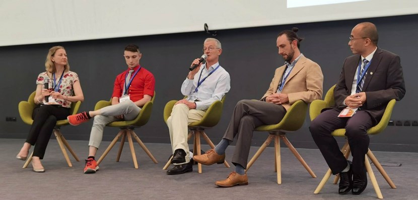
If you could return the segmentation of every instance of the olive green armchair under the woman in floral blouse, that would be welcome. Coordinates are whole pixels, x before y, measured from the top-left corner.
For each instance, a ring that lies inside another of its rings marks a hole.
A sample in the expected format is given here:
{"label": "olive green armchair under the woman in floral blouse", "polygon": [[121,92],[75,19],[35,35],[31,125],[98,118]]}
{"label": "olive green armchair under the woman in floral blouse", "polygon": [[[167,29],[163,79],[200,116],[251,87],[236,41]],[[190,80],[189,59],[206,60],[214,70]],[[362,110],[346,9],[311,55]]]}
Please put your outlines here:
{"label": "olive green armchair under the woman in floral blouse", "polygon": [[[20,117],[22,118],[23,122],[25,122],[26,124],[29,124],[29,125],[32,125],[32,123],[33,123],[32,113],[33,113],[33,109],[36,107],[36,104],[33,101],[34,98],[35,98],[35,93],[36,92],[32,92],[32,94],[29,95],[28,101],[19,102]],[[80,105],[81,105],[81,101],[73,102],[71,104],[71,110],[69,111],[69,113],[70,114],[77,114],[77,111],[79,110]],[[65,140],[64,136],[62,136],[60,128],[61,128],[61,126],[64,126],[64,125],[68,125],[68,120],[66,120],[66,119],[58,120],[56,122],[56,125],[54,127],[53,132],[54,132],[56,141],[58,142],[59,148],[61,149],[62,154],[64,155],[65,161],[68,164],[68,167],[73,167],[73,164],[69,160],[69,157],[68,157],[68,154],[67,154],[65,148],[68,149],[68,151],[73,155],[74,159],[76,159],[77,162],[79,162],[80,159],[77,157],[76,153],[73,151],[71,146],[69,146],[69,144]],[[32,161],[32,155],[33,155],[33,152],[31,153],[31,155],[26,160],[25,164],[23,165],[23,168],[28,167],[29,163]]]}

